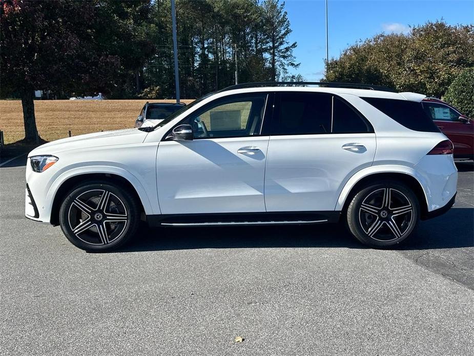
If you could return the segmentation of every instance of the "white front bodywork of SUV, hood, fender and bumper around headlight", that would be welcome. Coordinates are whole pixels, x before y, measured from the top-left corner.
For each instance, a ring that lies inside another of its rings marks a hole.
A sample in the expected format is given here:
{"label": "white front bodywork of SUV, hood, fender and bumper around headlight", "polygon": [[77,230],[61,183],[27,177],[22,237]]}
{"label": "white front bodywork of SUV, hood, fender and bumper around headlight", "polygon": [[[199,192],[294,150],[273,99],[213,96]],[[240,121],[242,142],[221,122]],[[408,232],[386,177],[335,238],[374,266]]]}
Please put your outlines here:
{"label": "white front bodywork of SUV, hood, fender and bumper around headlight", "polygon": [[30,152],[29,157],[53,151],[59,159],[41,173],[27,164],[26,179],[39,212],[36,220],[49,222],[60,185],[73,176],[88,173],[123,177],[134,186],[145,213],[159,214],[154,165],[158,145],[143,144],[146,135],[135,129],[92,133],[53,141]]}

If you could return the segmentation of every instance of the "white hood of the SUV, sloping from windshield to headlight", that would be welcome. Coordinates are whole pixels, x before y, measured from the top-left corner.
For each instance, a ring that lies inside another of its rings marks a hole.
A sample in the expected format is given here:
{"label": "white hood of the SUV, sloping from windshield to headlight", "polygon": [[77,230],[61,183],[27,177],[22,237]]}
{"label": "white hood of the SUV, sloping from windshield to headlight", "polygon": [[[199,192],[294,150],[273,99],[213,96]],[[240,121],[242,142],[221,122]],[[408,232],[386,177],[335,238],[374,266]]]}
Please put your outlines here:
{"label": "white hood of the SUV, sloping from windshield to headlight", "polygon": [[106,132],[88,133],[49,142],[35,148],[28,157],[39,154],[55,154],[63,151],[84,149],[99,146],[127,145],[143,142],[147,132],[138,129],[125,129]]}

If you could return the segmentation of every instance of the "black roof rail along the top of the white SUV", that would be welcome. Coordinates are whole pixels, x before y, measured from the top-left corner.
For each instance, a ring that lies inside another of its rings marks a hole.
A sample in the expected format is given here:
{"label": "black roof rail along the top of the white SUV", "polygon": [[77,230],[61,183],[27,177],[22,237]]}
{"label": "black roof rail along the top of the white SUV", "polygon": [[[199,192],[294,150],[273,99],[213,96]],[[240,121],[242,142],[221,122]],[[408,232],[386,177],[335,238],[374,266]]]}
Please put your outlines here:
{"label": "black roof rail along the top of the white SUV", "polygon": [[242,83],[231,85],[230,87],[226,87],[222,91],[227,90],[234,90],[234,89],[242,89],[242,88],[258,88],[258,87],[304,87],[310,85],[317,85],[319,87],[325,88],[353,88],[353,89],[369,89],[369,90],[380,90],[380,91],[389,91],[396,93],[397,91],[381,86],[381,85],[372,85],[372,84],[356,84],[356,83],[334,83],[334,82],[256,82],[256,83]]}

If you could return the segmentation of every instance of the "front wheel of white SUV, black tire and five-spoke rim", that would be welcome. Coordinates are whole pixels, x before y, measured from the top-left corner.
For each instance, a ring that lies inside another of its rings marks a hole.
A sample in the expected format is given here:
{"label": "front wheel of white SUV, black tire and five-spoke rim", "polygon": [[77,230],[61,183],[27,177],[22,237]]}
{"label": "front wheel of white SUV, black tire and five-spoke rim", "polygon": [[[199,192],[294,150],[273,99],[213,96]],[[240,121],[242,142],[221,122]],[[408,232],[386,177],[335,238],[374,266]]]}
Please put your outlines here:
{"label": "front wheel of white SUV, black tire and five-spoke rim", "polygon": [[66,238],[86,251],[110,251],[126,244],[140,224],[140,203],[125,187],[86,182],[74,187],[59,209]]}

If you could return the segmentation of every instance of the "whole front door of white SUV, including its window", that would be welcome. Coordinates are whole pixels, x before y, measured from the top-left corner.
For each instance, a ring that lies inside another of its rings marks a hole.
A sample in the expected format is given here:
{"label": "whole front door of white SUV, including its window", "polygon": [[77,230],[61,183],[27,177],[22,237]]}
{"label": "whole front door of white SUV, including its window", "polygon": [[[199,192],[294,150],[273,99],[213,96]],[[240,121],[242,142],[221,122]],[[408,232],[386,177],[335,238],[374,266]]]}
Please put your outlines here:
{"label": "whole front door of white SUV, including its window", "polygon": [[218,98],[178,124],[192,125],[194,140],[160,142],[162,214],[265,211],[269,136],[261,136],[260,130],[267,97],[251,93]]}

